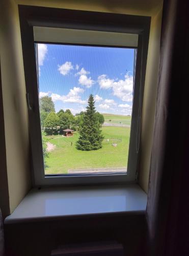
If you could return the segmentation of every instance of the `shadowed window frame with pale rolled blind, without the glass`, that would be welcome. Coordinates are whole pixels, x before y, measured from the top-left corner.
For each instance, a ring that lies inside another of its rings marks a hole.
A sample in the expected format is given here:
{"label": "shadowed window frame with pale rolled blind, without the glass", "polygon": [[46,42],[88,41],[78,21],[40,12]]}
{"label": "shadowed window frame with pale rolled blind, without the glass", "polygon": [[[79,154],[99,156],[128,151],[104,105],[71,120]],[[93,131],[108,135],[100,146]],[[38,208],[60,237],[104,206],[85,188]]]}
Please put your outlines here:
{"label": "shadowed window frame with pale rolled blind, without the glass", "polygon": [[[68,13],[68,16],[70,12],[72,12],[72,14],[78,14],[78,17],[80,17],[80,14],[82,14],[82,18],[78,18],[77,22],[73,24],[71,23],[71,19],[68,20],[63,18],[62,20],[59,19],[58,21],[56,18],[53,20],[52,17],[51,19],[48,19],[49,9],[55,13],[55,16],[56,13],[60,13],[62,11],[62,13],[65,15]],[[97,21],[95,21],[93,24],[86,25],[83,19],[86,19],[85,21],[87,21],[90,19],[88,15],[94,15],[95,12],[42,8],[41,11],[43,12],[44,16],[46,15],[46,17],[41,15],[39,18],[39,14],[36,15],[36,11],[36,7],[19,6],[26,83],[26,99],[28,101],[29,109],[33,185],[80,185],[136,182],[140,156],[140,122],[150,18],[136,16],[136,18],[133,19],[133,16],[131,15],[120,16],[119,14],[96,13],[100,17],[99,20],[97,18]],[[40,10],[38,11],[40,13]],[[112,19],[120,19],[120,24],[118,23],[116,26],[107,26],[106,22],[103,22],[103,15],[106,15],[106,18],[110,18],[110,21],[112,21]],[[101,23],[100,20],[102,20]],[[122,27],[123,20],[125,20],[125,24]],[[43,31],[43,33],[41,31]],[[57,31],[59,31],[59,33],[57,33]],[[60,36],[61,33],[64,35],[64,38],[63,36]],[[137,46],[136,35],[138,38]],[[113,38],[111,43],[109,43],[110,40],[107,39],[110,37]],[[52,40],[52,38],[54,39]],[[127,173],[45,175],[42,154],[35,42],[106,47],[130,47],[136,49],[135,52],[137,52],[137,54],[135,54],[134,60],[133,106]]]}

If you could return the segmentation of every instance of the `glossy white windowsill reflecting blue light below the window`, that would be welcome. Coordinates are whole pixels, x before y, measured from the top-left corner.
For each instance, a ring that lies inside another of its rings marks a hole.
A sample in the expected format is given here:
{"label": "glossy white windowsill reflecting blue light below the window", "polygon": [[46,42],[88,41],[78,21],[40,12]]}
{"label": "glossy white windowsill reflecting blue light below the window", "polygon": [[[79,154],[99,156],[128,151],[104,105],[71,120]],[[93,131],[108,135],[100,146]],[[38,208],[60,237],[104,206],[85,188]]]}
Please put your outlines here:
{"label": "glossy white windowsill reflecting blue light below the window", "polygon": [[5,224],[63,217],[145,212],[147,195],[137,184],[33,188]]}

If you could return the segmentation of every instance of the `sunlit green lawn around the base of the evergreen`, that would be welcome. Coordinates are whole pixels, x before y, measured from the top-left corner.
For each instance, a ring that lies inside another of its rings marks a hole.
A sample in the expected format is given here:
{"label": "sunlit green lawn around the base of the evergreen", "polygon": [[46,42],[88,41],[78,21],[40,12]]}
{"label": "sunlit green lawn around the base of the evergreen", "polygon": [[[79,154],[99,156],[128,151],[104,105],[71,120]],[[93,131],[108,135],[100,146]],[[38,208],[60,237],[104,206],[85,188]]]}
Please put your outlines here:
{"label": "sunlit green lawn around the base of the evergreen", "polygon": [[[104,141],[97,151],[76,150],[75,142],[79,136],[76,132],[73,137],[60,136],[60,140],[53,136],[49,142],[57,147],[46,158],[45,174],[66,174],[68,169],[126,167],[130,128],[103,126],[102,133]],[[117,143],[117,146],[111,143]]]}

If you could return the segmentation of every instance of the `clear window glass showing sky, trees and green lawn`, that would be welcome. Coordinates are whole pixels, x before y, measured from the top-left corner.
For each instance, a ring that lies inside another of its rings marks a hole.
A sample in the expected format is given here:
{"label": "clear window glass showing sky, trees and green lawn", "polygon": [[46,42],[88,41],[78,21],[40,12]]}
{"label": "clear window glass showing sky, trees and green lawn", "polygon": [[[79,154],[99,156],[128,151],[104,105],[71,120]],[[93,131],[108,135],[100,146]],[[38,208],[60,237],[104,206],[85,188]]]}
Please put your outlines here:
{"label": "clear window glass showing sky, trees and green lawn", "polygon": [[126,172],[134,49],[36,46],[45,174]]}

